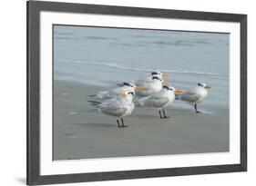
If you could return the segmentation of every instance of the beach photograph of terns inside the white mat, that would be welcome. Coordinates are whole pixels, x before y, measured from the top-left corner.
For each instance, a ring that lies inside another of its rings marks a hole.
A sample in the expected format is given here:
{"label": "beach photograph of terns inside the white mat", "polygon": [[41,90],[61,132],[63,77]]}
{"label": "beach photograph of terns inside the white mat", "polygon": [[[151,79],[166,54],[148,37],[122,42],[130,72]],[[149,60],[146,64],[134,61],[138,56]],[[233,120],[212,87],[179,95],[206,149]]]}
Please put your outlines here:
{"label": "beach photograph of terns inside the white mat", "polygon": [[230,34],[53,24],[53,161],[230,151]]}

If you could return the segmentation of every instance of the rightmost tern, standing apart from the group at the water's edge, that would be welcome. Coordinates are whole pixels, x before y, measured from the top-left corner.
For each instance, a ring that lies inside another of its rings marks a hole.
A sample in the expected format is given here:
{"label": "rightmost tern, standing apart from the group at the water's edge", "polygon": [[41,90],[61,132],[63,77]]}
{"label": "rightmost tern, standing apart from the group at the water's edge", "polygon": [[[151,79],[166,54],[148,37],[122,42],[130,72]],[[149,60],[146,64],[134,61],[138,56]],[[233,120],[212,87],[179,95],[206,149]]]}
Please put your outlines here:
{"label": "rightmost tern, standing apart from the group at the water's edge", "polygon": [[198,83],[198,86],[193,90],[176,95],[177,100],[189,103],[194,106],[196,113],[200,113],[197,108],[198,103],[202,103],[208,94],[210,86],[206,83]]}

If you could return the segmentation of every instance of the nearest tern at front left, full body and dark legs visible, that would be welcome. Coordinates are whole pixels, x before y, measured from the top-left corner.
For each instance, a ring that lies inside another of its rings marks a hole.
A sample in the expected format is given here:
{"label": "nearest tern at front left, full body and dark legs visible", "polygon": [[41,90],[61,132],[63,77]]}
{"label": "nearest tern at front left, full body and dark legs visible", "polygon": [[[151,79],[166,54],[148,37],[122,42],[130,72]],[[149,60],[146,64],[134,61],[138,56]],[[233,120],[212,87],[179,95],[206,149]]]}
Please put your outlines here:
{"label": "nearest tern at front left, full body and dark legs visible", "polygon": [[[120,93],[118,97],[101,101],[88,101],[97,110],[98,113],[103,113],[117,118],[118,127],[126,127],[123,117],[130,115],[134,110],[132,99],[134,92],[126,91]],[[120,124],[121,120],[122,124]]]}

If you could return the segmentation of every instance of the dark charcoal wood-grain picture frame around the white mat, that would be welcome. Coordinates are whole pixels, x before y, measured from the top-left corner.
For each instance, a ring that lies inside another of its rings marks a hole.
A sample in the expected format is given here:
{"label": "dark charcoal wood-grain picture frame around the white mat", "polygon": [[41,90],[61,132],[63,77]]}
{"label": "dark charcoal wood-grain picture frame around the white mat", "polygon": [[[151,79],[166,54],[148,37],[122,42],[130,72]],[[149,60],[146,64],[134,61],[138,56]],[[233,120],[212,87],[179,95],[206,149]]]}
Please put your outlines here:
{"label": "dark charcoal wood-grain picture frame around the white mat", "polygon": [[[247,171],[247,15],[193,12],[112,5],[85,5],[56,2],[27,2],[27,159],[26,184],[41,185],[52,183],[110,181],[167,177],[193,174]],[[62,175],[40,175],[40,12],[68,12],[100,15],[129,15],[140,17],[179,18],[235,22],[241,24],[241,163],[197,166],[184,168],[164,168],[139,171],[108,171],[95,173],[74,173]]]}

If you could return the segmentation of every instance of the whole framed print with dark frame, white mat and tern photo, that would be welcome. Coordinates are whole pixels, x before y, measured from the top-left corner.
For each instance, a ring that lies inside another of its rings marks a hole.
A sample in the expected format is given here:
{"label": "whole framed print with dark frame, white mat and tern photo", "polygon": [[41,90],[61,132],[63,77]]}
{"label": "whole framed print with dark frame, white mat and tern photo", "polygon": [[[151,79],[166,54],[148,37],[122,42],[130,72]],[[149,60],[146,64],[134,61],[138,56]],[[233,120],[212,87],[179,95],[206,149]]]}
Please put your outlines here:
{"label": "whole framed print with dark frame, white mat and tern photo", "polygon": [[27,184],[247,170],[247,15],[27,2]]}

